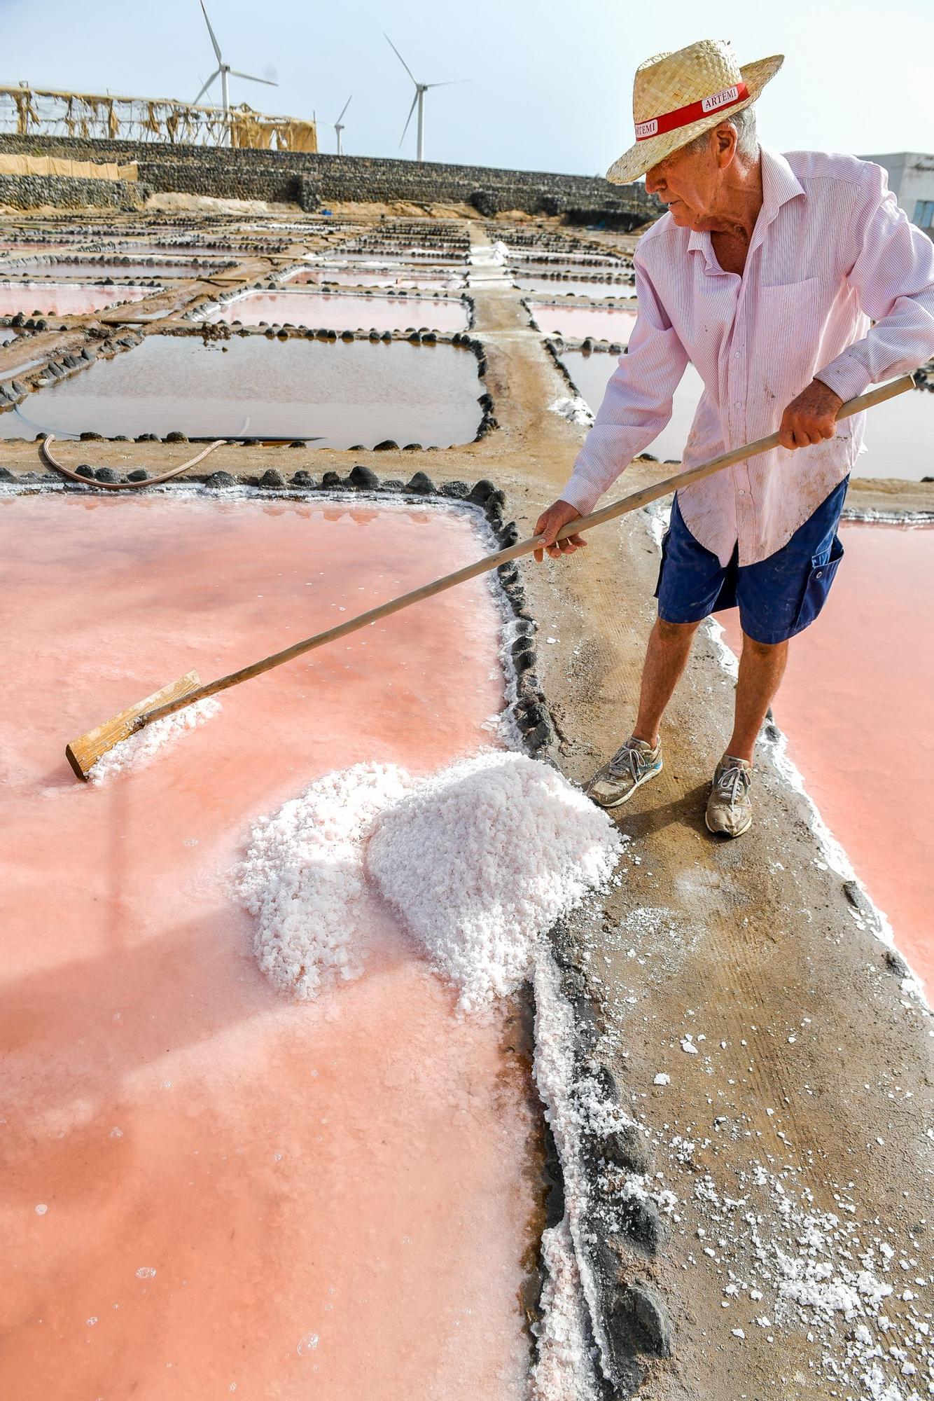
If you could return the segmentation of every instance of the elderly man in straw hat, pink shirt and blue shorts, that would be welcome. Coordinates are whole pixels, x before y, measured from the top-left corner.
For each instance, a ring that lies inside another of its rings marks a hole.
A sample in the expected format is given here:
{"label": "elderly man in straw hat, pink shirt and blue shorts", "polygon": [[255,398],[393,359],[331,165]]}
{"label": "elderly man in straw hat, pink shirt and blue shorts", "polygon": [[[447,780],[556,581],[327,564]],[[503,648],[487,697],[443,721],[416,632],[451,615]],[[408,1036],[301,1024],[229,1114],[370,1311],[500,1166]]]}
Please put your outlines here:
{"label": "elderly man in straw hat, pink shirt and blue shorts", "polygon": [[728,43],[702,41],[639,69],[636,144],[609,179],[646,172],[668,213],[636,251],[629,353],[535,527],[552,558],[585,545],[555,538],[661,432],[689,360],[704,392],[685,468],[779,429],[780,448],[676,493],[636,724],[588,787],[615,807],[661,771],[661,719],[697,626],[738,605],[734,727],[706,814],[727,836],[752,822],[753,747],[788,639],[821,612],[843,556],[836,527],[864,415],[837,423],[836,413],[934,353],[934,247],[896,206],[885,171],[759,146],[752,102],[781,63],[741,69]]}

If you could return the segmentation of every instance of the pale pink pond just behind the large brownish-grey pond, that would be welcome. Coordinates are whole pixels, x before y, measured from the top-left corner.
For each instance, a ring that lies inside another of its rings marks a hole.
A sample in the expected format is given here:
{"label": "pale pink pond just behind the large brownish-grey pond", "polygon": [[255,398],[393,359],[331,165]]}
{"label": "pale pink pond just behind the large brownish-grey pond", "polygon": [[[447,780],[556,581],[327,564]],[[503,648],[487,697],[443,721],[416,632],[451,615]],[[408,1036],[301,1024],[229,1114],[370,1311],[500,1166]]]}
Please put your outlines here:
{"label": "pale pink pond just behind the large brownish-grey pond", "polygon": [[466,305],[459,297],[351,297],[326,291],[248,291],[225,301],[207,321],[241,321],[245,326],[273,322],[323,326],[329,331],[465,331]]}

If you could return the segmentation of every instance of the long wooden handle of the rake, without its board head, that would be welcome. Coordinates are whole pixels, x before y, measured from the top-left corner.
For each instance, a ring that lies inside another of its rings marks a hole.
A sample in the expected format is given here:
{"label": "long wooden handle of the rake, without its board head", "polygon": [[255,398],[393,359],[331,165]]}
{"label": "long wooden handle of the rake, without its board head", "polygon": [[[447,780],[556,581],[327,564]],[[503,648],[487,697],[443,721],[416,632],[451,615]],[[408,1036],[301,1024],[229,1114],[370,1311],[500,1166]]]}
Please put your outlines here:
{"label": "long wooden handle of the rake, without its board head", "polygon": [[[849,399],[837,413],[837,419],[847,419],[853,413],[861,413],[863,409],[871,409],[875,403],[882,403],[885,399],[892,399],[896,394],[903,394],[906,389],[913,388],[914,381],[910,375],[903,375],[900,380],[893,380],[891,384],[884,384],[878,389],[870,389],[868,394],[860,395],[858,399]],[[578,520],[570,521],[557,532],[557,539],[564,539],[566,535],[580,535],[581,531],[592,530],[595,525],[602,525],[604,521],[613,520],[616,516],[625,516],[627,511],[636,511],[641,506],[647,506],[650,502],[657,502],[662,496],[668,496],[669,492],[675,492],[682,486],[690,486],[692,482],[700,482],[704,476],[713,476],[714,472],[723,471],[724,467],[732,467],[737,462],[742,462],[748,457],[753,457],[756,453],[767,453],[769,448],[779,447],[779,434],[770,433],[769,437],[758,439],[755,443],[748,443],[745,447],[732,448],[730,453],[721,453],[720,457],[711,458],[710,462],[702,462],[700,467],[690,468],[688,472],[679,472],[676,476],[669,476],[664,482],[657,482],[654,486],[646,486],[641,492],[633,492],[632,496],[623,496],[619,502],[612,502],[609,506],[604,506],[599,511],[592,511],[590,516],[583,516]],[[249,681],[252,677],[259,677],[263,671],[272,671],[273,667],[281,667],[286,661],[293,661],[295,657],[301,657],[305,651],[312,651],[315,647],[323,647],[329,642],[337,642],[339,637],[346,637],[347,633],[357,632],[360,628],[368,628],[372,622],[379,622],[381,618],[388,618],[393,612],[399,612],[402,608],[409,608],[412,604],[421,602],[423,598],[433,598],[434,594],[444,593],[445,588],[454,588],[455,584],[463,584],[468,579],[476,579],[478,574],[486,574],[490,569],[499,569],[500,565],[507,565],[511,559],[521,559],[522,555],[531,555],[534,549],[539,549],[542,539],[539,535],[532,535],[529,539],[517,541],[515,545],[510,545],[508,549],[500,549],[496,555],[486,555],[485,559],[478,559],[475,565],[466,565],[463,569],[456,569],[452,574],[444,574],[442,579],[435,579],[430,584],[421,584],[420,588],[413,588],[407,594],[400,594],[399,598],[391,598],[385,604],[379,604],[377,608],[370,608],[364,614],[358,614],[356,618],[349,618],[346,622],[339,623],[336,628],[328,628],[326,632],[319,632],[314,637],[307,637],[304,642],[295,642],[291,647],[286,647],[283,651],[274,651],[272,657],[263,657],[262,661],[253,661],[249,667],[242,667],[239,671],[231,671],[228,677],[220,677],[217,681],[209,681],[206,685],[199,686],[197,691],[192,691],[176,700],[171,700],[168,705],[161,705],[155,710],[144,712],[137,716],[134,722],[134,729],[140,730],[143,726],[148,724],[151,720],[160,720],[162,716],[174,715],[175,710],[181,710],[195,700],[203,700],[206,696],[217,695],[218,691],[227,691],[228,686],[238,686],[241,681]]]}

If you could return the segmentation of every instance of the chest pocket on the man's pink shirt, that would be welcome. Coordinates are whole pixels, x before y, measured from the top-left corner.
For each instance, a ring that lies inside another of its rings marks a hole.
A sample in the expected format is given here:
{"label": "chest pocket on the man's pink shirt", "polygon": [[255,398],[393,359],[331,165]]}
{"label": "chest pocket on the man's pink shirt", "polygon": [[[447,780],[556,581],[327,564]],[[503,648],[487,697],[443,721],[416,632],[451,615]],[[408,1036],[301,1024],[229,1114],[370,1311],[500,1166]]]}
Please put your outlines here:
{"label": "chest pocket on the man's pink shirt", "polygon": [[821,287],[821,277],[807,277],[759,289],[758,361],[765,395],[783,399],[781,409],[814,378],[826,319]]}

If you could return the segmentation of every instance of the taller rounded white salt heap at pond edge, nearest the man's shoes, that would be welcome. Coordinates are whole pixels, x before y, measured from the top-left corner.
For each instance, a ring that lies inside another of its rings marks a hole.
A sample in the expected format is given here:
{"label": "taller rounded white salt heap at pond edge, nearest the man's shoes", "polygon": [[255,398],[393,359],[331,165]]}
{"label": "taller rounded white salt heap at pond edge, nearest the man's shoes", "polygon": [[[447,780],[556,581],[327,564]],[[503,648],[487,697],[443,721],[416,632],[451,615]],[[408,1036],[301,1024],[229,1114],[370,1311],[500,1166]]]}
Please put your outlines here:
{"label": "taller rounded white salt heap at pond edge, nearest the man's shoes", "polygon": [[486,752],[386,808],[367,866],[475,1012],[531,976],[539,937],[611,877],[620,845],[556,769]]}

